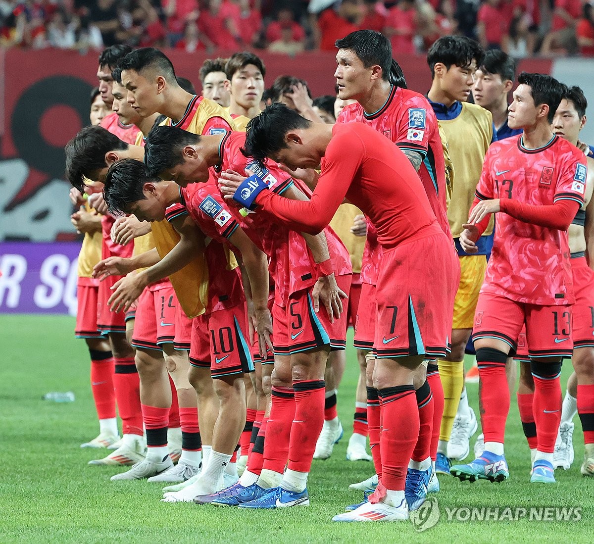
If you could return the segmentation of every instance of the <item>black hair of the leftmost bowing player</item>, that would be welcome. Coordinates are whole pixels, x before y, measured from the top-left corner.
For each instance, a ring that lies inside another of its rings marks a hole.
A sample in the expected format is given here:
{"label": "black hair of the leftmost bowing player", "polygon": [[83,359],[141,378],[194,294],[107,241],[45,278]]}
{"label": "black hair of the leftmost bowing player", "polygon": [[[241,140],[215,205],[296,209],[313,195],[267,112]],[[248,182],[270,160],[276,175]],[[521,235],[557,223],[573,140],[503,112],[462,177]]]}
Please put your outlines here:
{"label": "black hair of the leftmost bowing player", "polygon": [[102,126],[85,126],[64,148],[66,179],[73,187],[84,192],[85,179],[91,179],[94,171],[107,166],[105,154],[127,149],[127,143]]}

